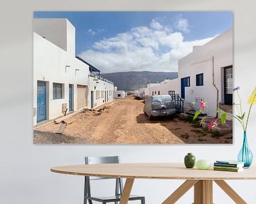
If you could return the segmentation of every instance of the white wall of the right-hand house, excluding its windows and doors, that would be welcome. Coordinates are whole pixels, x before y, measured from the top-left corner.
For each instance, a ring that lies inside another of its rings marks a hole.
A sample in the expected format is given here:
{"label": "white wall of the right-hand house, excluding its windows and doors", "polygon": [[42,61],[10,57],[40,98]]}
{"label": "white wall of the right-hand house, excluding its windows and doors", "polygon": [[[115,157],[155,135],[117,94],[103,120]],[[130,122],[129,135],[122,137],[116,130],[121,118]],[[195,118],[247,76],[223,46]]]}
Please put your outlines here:
{"label": "white wall of the right-hand house, excluding its windows and doors", "polygon": [[[233,65],[233,28],[221,33],[206,45],[195,48],[193,52],[178,61],[178,83],[181,84],[182,78],[190,77],[190,86],[186,87],[185,91],[185,101],[203,99],[208,103],[208,115],[215,116],[217,90],[213,86],[213,61],[214,84],[219,90],[218,103],[224,103],[223,67]],[[196,86],[196,74],[202,73],[203,86]]]}

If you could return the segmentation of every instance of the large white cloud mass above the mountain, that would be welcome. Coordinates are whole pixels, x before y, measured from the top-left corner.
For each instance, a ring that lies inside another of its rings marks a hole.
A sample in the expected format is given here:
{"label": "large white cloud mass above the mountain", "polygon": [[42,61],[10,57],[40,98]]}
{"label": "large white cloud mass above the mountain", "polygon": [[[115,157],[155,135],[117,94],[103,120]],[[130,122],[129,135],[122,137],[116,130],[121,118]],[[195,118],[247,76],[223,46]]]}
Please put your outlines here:
{"label": "large white cloud mass above the mountain", "polygon": [[95,42],[79,56],[102,73],[177,72],[179,59],[192,52],[194,45],[204,45],[213,38],[184,41],[182,33],[171,33],[166,26],[161,30],[141,26]]}

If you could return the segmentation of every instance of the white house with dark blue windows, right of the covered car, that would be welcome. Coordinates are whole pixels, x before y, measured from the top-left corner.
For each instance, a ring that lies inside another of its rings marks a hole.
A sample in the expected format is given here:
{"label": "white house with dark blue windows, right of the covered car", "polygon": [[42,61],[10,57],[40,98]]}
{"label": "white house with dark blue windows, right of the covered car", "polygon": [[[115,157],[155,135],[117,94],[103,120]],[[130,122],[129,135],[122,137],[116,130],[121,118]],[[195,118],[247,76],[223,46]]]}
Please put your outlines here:
{"label": "white house with dark blue windows, right of the covered car", "polygon": [[179,60],[178,82],[186,102],[208,103],[208,115],[216,115],[219,103],[232,105],[233,29],[193,47],[193,52]]}

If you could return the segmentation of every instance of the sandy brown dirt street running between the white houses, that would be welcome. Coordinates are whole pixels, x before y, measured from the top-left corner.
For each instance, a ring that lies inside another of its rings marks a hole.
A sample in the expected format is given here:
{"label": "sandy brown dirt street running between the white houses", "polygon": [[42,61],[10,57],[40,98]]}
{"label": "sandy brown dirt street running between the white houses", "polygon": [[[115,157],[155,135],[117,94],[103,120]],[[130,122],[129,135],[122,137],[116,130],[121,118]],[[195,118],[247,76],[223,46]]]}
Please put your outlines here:
{"label": "sandy brown dirt street running between the white houses", "polygon": [[149,120],[143,113],[144,103],[133,96],[114,103],[100,115],[94,111],[79,113],[65,120],[68,123],[62,135],[60,124],[48,123],[34,130],[38,144],[183,144],[232,143],[232,134],[213,137],[201,128],[179,118]]}

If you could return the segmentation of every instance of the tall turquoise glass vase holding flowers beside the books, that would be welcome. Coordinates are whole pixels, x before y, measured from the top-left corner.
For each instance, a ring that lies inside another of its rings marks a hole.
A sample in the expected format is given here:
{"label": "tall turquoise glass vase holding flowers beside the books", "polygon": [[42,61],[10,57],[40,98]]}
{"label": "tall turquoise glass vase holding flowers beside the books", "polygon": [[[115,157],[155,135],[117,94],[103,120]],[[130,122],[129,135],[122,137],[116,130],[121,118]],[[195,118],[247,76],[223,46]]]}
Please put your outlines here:
{"label": "tall turquoise glass vase holding flowers beside the books", "polygon": [[249,168],[250,165],[252,164],[252,159],[253,159],[253,155],[248,147],[247,135],[246,135],[246,131],[244,131],[242,148],[240,149],[240,152],[238,154],[238,161],[245,162],[244,168]]}

